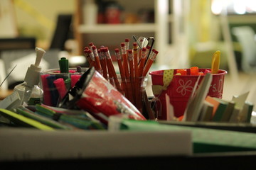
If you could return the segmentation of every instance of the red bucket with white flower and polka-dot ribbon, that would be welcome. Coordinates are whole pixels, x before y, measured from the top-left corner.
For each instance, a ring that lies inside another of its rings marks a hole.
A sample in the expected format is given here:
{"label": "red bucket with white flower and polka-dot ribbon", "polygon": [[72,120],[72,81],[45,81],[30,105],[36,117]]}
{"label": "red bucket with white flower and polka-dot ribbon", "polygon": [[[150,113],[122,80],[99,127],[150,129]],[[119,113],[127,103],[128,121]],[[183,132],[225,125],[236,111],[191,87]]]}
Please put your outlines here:
{"label": "red bucket with white flower and polka-dot ribbon", "polygon": [[[188,98],[191,96],[193,86],[196,84],[200,74],[193,74],[192,69],[186,69],[186,75],[179,74],[180,69],[166,69],[150,72],[152,80],[152,91],[156,98],[156,114],[159,120],[166,120],[166,94],[170,98],[170,103],[174,107],[176,118],[184,114]],[[210,72],[210,69],[198,69],[198,72]],[[218,74],[213,74],[213,80],[208,91],[208,96],[222,98],[224,78],[227,72],[220,69]],[[204,74],[198,81],[201,83]]]}

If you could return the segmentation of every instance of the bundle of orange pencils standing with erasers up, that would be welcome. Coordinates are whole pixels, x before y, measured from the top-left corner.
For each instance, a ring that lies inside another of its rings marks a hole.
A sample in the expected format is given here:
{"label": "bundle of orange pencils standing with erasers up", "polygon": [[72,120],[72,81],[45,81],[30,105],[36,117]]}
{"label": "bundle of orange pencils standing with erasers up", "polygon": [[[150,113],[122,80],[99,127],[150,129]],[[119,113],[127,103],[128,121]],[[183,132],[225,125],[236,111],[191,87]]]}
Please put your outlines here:
{"label": "bundle of orange pencils standing with erasers up", "polygon": [[110,81],[139,111],[142,111],[142,83],[158,51],[151,50],[149,45],[140,48],[137,42],[133,42],[132,49],[129,49],[129,39],[125,39],[120,44],[120,50],[114,49],[120,77],[117,77],[108,47],[101,46],[97,49],[90,42],[89,47],[84,48],[84,53],[90,67],[95,67],[97,72]]}

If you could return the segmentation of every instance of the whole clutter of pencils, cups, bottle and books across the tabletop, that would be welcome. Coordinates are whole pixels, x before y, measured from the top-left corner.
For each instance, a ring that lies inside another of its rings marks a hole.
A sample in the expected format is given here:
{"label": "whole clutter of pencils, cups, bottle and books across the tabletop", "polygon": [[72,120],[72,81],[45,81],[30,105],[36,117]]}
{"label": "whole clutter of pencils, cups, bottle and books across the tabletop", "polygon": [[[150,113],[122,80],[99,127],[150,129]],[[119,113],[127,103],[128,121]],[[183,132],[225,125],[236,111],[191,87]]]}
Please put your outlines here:
{"label": "whole clutter of pencils, cups, bottle and books across the tabletop", "polygon": [[[129,39],[110,55],[108,47],[90,42],[84,55],[90,67],[41,70],[45,50],[36,47],[36,62],[28,67],[23,84],[0,102],[1,123],[41,130],[106,130],[112,115],[139,121],[214,121],[250,123],[253,105],[247,94],[222,99],[225,70],[219,69],[220,51],[208,69],[166,69],[149,72],[158,51],[149,38]],[[112,58],[118,64],[114,68]],[[152,80],[153,98],[146,94]],[[236,105],[236,103],[242,103]]]}

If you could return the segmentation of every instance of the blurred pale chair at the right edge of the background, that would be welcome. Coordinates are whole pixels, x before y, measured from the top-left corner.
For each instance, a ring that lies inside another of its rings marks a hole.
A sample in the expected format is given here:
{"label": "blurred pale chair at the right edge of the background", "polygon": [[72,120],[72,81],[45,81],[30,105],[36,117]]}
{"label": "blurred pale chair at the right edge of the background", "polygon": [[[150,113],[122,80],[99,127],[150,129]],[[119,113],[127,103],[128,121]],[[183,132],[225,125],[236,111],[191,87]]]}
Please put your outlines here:
{"label": "blurred pale chair at the right edge of the background", "polygon": [[233,27],[232,33],[242,48],[241,68],[245,73],[256,72],[255,32],[249,26]]}

